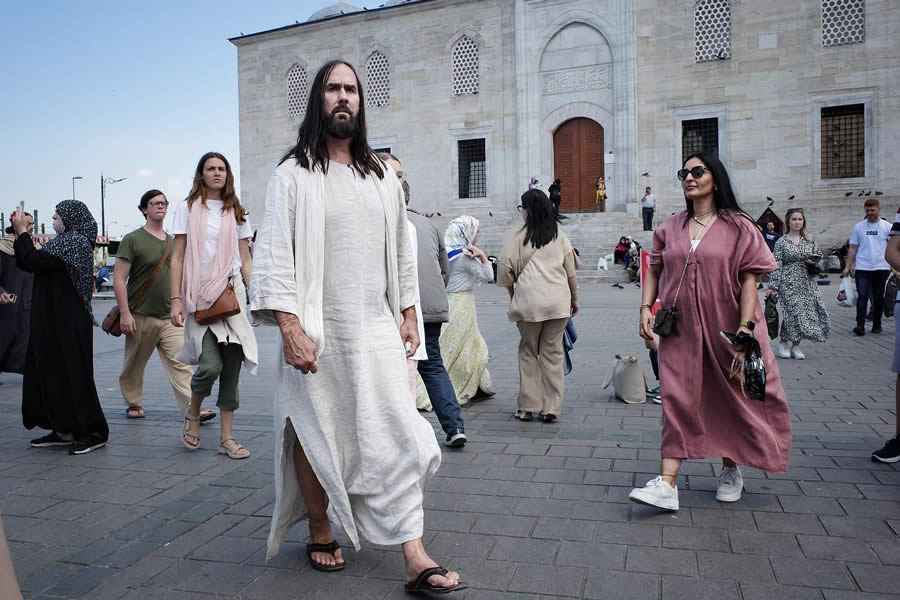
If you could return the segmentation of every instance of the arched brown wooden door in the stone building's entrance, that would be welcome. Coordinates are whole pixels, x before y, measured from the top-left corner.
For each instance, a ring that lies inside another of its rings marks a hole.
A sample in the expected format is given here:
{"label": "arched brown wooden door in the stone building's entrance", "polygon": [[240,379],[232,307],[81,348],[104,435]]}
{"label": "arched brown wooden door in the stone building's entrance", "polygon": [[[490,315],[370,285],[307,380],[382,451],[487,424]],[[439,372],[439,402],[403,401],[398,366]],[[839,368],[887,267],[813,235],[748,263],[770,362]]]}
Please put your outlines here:
{"label": "arched brown wooden door in the stone building's entrance", "polygon": [[566,121],[553,133],[553,176],[560,180],[560,211],[597,210],[597,177],[603,176],[603,126],[586,118]]}

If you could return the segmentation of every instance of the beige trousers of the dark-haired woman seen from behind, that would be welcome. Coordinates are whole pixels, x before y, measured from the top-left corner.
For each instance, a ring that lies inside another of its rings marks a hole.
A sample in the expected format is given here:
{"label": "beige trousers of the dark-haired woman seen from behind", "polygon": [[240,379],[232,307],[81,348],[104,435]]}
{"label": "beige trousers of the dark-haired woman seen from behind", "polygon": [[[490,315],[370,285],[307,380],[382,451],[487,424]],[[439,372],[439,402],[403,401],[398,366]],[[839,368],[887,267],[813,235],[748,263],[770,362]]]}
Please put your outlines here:
{"label": "beige trousers of the dark-haired woman seen from behind", "polygon": [[519,410],[559,416],[562,411],[563,333],[568,319],[518,321]]}

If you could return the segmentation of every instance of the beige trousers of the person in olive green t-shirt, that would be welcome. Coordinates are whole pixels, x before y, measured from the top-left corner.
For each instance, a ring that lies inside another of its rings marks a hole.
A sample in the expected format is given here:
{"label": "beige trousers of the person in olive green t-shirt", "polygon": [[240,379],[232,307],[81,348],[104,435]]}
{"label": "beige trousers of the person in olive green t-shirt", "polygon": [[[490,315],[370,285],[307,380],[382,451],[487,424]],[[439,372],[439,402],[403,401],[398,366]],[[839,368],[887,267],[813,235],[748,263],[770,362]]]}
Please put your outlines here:
{"label": "beige trousers of the person in olive green t-shirt", "polygon": [[128,406],[140,406],[144,395],[144,369],[147,361],[158,350],[178,409],[184,413],[191,401],[191,377],[194,370],[189,365],[175,360],[175,355],[184,344],[184,328],[175,327],[169,319],[157,319],[146,315],[134,315],[134,335],[125,336],[125,360],[119,388]]}

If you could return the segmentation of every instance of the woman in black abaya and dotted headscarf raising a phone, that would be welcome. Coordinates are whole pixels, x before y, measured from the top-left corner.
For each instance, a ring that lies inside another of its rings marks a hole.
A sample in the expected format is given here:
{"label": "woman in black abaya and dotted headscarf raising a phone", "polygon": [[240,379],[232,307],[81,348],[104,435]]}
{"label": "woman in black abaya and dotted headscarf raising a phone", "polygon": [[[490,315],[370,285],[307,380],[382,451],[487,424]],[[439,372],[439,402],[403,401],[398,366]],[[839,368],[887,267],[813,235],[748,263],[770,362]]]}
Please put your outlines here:
{"label": "woman in black abaya and dotted headscarf raising a phone", "polygon": [[56,206],[57,236],[36,250],[27,223],[13,214],[16,264],[34,273],[31,335],[25,356],[22,421],[50,433],[32,447],[69,446],[86,454],[106,444],[109,427],[94,385],[91,310],[97,222],[77,200]]}

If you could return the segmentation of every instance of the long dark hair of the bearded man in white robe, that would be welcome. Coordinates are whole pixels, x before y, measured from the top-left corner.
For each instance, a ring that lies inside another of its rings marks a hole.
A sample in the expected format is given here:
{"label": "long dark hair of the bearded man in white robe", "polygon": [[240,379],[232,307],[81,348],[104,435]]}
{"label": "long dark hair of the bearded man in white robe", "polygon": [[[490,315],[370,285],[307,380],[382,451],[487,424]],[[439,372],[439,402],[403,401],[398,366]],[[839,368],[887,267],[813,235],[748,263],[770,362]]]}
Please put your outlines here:
{"label": "long dark hair of the bearded man in white robe", "polygon": [[285,153],[278,164],[293,158],[304,169],[313,170],[318,167],[322,172],[328,172],[328,145],[325,137],[328,132],[330,115],[325,112],[325,82],[338,65],[346,65],[353,71],[353,76],[356,77],[356,89],[359,93],[359,111],[356,113],[358,127],[356,134],[350,140],[353,166],[366,175],[375,173],[379,179],[383,179],[384,167],[372,148],[369,147],[366,139],[366,100],[363,96],[359,75],[356,74],[353,65],[343,60],[332,60],[316,73],[312,89],[309,90],[306,115],[303,117],[303,122],[300,123],[300,131],[297,133],[297,144]]}

